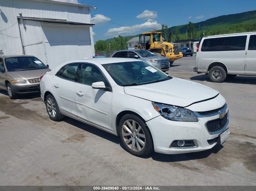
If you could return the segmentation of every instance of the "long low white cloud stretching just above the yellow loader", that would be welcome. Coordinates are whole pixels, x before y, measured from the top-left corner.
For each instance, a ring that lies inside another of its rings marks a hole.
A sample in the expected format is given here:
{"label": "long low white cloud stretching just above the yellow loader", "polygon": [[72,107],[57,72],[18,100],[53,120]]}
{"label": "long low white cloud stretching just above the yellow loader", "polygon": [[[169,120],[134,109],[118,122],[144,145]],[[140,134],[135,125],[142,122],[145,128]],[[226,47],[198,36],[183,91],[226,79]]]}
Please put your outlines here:
{"label": "long low white cloud stretching just above the yellow loader", "polygon": [[123,33],[133,33],[138,29],[154,30],[154,29],[161,28],[161,24],[157,23],[157,21],[153,21],[152,19],[148,19],[148,21],[145,23],[135,24],[135,25],[132,25],[131,27],[132,28],[128,28],[128,27],[110,28],[108,29],[108,32],[105,33],[104,35],[106,36],[106,35],[119,35]]}

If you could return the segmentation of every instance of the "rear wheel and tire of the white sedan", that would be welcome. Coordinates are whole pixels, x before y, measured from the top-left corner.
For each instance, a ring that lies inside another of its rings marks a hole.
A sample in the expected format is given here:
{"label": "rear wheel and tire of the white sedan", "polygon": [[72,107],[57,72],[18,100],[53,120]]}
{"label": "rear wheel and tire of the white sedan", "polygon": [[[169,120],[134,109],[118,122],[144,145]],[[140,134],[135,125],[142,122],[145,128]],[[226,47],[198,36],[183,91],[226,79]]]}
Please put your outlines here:
{"label": "rear wheel and tire of the white sedan", "polygon": [[47,95],[45,100],[45,106],[50,119],[52,119],[53,121],[60,121],[64,119],[65,115],[61,114],[58,103],[51,94]]}

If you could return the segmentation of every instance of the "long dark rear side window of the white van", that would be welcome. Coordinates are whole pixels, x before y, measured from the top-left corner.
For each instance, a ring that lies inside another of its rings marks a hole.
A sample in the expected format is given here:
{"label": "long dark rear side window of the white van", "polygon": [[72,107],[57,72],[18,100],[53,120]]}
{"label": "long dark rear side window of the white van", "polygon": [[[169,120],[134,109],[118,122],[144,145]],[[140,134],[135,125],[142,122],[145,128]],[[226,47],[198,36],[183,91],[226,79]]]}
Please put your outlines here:
{"label": "long dark rear side window of the white van", "polygon": [[247,36],[219,37],[204,39],[201,51],[237,51],[245,50]]}

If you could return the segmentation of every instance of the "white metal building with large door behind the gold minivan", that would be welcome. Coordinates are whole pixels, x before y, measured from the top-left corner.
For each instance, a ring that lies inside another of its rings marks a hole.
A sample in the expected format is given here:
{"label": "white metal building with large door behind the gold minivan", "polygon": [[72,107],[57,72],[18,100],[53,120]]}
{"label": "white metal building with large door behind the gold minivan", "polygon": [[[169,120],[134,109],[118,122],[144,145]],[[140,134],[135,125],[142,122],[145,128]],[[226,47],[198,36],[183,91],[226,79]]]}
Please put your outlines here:
{"label": "white metal building with large door behind the gold minivan", "polygon": [[0,54],[27,54],[55,68],[92,58],[91,6],[51,0],[0,0]]}

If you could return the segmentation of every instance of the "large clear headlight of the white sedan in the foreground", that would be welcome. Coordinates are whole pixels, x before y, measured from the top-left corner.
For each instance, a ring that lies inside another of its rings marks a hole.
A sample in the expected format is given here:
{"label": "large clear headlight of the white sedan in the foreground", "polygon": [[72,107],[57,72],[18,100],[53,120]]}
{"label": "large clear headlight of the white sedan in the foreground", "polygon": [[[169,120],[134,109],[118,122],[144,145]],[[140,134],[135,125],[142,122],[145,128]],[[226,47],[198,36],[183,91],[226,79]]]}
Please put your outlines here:
{"label": "large clear headlight of the white sedan in the foreground", "polygon": [[196,115],[187,109],[152,102],[161,116],[172,121],[198,122]]}

